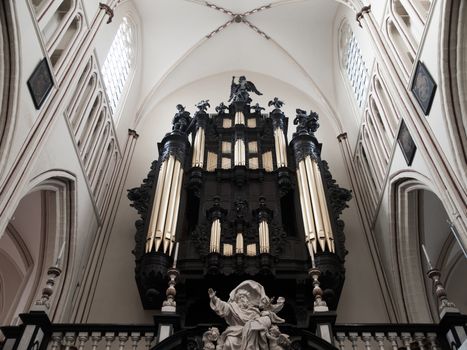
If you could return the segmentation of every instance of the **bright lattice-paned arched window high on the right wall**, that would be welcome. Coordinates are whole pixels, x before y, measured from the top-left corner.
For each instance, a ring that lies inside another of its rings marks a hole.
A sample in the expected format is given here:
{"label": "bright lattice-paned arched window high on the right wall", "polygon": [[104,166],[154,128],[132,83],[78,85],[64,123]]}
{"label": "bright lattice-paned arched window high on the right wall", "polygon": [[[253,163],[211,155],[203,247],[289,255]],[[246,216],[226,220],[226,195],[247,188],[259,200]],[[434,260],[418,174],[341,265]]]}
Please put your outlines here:
{"label": "bright lattice-paned arched window high on the right wall", "polygon": [[368,91],[368,69],[363,60],[357,38],[345,21],[340,28],[341,68],[348,78],[358,108],[363,109]]}

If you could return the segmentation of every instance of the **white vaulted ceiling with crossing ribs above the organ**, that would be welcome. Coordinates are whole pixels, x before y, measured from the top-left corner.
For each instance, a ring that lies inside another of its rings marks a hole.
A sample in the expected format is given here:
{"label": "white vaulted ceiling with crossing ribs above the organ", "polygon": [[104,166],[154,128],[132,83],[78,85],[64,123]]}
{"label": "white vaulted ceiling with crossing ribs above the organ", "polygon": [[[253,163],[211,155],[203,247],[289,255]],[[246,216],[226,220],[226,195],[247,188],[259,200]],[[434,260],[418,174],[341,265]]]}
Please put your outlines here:
{"label": "white vaulted ceiling with crossing ribs above the organ", "polygon": [[133,4],[141,19],[137,124],[183,86],[238,71],[295,86],[340,129],[332,107],[335,18],[343,6],[339,2],[134,0]]}

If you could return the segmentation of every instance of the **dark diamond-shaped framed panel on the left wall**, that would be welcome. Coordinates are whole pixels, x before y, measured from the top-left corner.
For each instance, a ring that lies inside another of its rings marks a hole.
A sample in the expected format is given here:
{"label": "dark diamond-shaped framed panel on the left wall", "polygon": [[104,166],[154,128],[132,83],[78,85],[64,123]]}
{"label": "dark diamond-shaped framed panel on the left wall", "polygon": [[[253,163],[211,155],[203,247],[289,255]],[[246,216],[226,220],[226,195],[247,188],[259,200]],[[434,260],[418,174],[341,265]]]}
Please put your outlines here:
{"label": "dark diamond-shaped framed panel on the left wall", "polygon": [[47,60],[43,58],[28,79],[28,88],[36,109],[41,108],[52,90],[54,81]]}

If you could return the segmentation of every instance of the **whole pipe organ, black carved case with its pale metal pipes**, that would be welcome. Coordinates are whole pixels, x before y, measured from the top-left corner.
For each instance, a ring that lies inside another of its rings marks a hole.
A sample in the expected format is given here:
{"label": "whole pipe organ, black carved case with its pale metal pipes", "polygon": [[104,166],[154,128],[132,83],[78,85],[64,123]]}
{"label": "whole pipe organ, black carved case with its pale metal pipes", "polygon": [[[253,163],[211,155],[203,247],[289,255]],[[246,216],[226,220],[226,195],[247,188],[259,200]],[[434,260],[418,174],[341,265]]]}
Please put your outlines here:
{"label": "whole pipe organ, black carved case with its pale metal pipes", "polygon": [[339,215],[351,195],[320,158],[318,116],[297,110],[289,144],[282,102],[271,101],[265,114],[249,101],[221,104],[216,114],[202,101],[193,118],[178,105],[173,130],[158,145],[159,159],[128,193],[141,216],[133,253],[144,308],[160,309],[177,255],[177,312],[185,325],[218,321],[206,312],[208,288],[227,295],[254,279],[270,295],[286,298],[282,314],[289,323],[306,326],[311,257],[331,309],[342,289]]}

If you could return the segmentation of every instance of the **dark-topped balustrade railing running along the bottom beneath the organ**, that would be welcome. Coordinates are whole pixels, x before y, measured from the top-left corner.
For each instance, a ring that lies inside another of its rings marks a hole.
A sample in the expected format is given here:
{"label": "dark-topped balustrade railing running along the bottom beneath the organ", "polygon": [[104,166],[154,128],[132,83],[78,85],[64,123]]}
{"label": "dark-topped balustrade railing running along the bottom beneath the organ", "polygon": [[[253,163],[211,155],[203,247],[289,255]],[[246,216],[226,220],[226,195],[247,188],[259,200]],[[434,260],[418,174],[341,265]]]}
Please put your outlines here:
{"label": "dark-topped balustrade railing running along the bottom beneath the organ", "polygon": [[[179,318],[170,315],[155,325],[53,324],[45,312],[20,317],[22,325],[1,327],[4,339],[0,350],[203,350],[203,333],[212,326],[179,329]],[[319,319],[314,321],[320,323]],[[158,323],[164,322],[172,324],[175,332],[158,342]],[[291,349],[438,350],[458,348],[452,330],[465,330],[466,325],[467,316],[461,314],[447,315],[440,324],[338,324],[332,326],[334,344],[318,337],[313,329],[280,328],[290,336]],[[222,331],[221,325],[216,326]]]}

